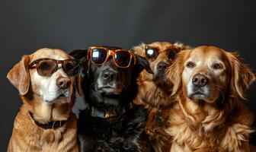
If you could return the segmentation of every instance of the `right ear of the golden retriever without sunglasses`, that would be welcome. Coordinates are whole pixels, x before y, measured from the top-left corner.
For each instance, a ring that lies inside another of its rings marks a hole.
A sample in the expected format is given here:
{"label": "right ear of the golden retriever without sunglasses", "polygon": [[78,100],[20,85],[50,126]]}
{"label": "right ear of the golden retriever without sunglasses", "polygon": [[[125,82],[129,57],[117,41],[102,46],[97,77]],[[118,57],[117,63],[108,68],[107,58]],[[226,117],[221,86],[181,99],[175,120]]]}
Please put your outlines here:
{"label": "right ear of the golden retriever without sunglasses", "polygon": [[245,100],[245,90],[255,81],[255,74],[248,68],[247,65],[240,59],[238,53],[227,53],[231,66],[231,89],[238,94],[239,97]]}

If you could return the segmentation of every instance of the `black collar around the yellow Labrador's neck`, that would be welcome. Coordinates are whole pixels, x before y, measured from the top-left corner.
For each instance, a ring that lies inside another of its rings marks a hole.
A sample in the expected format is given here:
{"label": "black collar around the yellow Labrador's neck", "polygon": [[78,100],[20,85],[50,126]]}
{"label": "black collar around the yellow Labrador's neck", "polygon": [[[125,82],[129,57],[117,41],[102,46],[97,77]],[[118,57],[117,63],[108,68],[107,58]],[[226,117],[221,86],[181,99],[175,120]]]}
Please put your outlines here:
{"label": "black collar around the yellow Labrador's neck", "polygon": [[56,121],[56,122],[47,122],[46,124],[41,124],[40,122],[37,122],[37,120],[34,119],[33,113],[29,112],[31,119],[33,119],[34,123],[43,129],[55,129],[62,127],[68,120],[62,120],[62,121]]}

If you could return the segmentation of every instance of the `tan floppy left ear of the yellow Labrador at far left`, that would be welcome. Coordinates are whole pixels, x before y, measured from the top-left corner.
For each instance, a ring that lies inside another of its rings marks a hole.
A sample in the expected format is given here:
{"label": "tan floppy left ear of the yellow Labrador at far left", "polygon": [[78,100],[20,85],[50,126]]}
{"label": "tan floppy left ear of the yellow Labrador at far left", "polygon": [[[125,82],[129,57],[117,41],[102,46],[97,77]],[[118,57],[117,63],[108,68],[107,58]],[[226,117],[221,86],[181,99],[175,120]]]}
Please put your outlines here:
{"label": "tan floppy left ear of the yellow Labrador at far left", "polygon": [[24,55],[21,61],[14,65],[7,74],[8,80],[18,89],[21,95],[25,95],[30,87],[29,62],[29,55]]}

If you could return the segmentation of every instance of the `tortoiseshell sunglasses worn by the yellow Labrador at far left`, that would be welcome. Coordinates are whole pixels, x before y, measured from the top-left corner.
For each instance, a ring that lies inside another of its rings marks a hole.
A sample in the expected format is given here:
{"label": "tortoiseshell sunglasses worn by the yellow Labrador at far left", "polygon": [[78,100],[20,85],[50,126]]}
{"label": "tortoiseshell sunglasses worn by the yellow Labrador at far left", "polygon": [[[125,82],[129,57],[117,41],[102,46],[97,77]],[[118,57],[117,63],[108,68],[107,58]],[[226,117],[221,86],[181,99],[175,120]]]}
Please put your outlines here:
{"label": "tortoiseshell sunglasses worn by the yellow Labrador at far left", "polygon": [[57,71],[58,65],[62,65],[63,71],[69,77],[77,76],[80,72],[81,62],[76,59],[55,60],[49,58],[37,59],[28,65],[28,68],[37,68],[37,73],[42,77],[50,77]]}

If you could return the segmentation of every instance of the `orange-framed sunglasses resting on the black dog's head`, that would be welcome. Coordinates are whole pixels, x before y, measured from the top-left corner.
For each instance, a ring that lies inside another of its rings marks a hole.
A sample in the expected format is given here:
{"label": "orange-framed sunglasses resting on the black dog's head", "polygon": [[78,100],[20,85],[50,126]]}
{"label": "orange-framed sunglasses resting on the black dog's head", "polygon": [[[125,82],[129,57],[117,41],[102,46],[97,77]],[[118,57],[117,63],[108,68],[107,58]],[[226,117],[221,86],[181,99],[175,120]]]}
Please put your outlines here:
{"label": "orange-framed sunglasses resting on the black dog's head", "polygon": [[114,64],[120,68],[128,68],[134,59],[134,64],[136,63],[136,58],[130,49],[115,49],[109,50],[105,47],[91,46],[88,48],[87,59],[91,59],[94,65],[104,65],[105,62],[113,57]]}

